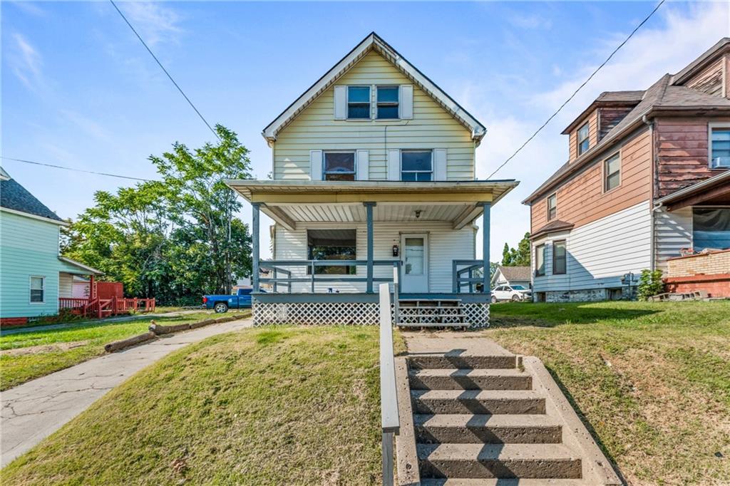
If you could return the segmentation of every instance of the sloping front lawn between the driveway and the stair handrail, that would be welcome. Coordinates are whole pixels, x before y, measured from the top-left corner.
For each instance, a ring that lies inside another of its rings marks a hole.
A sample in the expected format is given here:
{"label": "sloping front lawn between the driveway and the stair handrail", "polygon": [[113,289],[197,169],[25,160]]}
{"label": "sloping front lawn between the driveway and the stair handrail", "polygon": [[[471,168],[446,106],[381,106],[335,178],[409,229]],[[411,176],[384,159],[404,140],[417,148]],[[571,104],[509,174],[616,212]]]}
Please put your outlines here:
{"label": "sloping front lawn between the driveway and the stair handrail", "polygon": [[11,463],[3,485],[380,484],[377,333],[255,328],[191,344]]}

